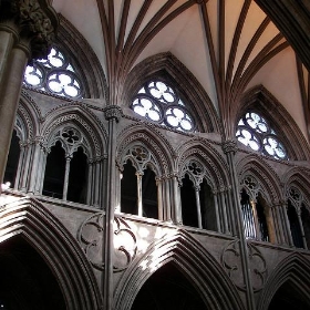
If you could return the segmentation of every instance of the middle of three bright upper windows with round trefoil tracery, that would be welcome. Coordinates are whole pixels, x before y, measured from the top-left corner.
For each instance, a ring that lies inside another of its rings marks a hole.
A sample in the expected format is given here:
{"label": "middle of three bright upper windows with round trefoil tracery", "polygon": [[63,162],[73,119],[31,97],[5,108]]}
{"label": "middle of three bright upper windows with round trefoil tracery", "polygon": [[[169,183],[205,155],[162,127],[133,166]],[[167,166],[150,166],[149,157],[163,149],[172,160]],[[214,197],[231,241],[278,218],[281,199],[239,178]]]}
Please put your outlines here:
{"label": "middle of three bright upper windows with round trefoil tracery", "polygon": [[195,131],[195,122],[176,90],[162,81],[147,82],[135,95],[132,110],[146,120],[182,132]]}

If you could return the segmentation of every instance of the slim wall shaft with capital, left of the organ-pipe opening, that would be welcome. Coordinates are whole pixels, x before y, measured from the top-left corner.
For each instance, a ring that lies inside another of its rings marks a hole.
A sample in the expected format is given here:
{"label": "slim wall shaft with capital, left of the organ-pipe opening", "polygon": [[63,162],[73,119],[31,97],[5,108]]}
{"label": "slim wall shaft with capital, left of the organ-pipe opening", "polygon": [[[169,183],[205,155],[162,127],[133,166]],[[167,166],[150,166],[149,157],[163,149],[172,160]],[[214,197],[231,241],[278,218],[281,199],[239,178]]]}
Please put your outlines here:
{"label": "slim wall shaft with capital, left of the organ-pipe opening", "polygon": [[240,262],[242,268],[242,276],[245,281],[245,291],[247,298],[247,309],[254,310],[255,307],[255,296],[254,296],[254,287],[250,276],[250,266],[249,266],[249,257],[247,249],[247,240],[245,238],[242,215],[241,215],[241,206],[239,202],[239,188],[238,188],[238,177],[236,172],[236,163],[234,161],[235,154],[237,152],[236,141],[226,141],[223,143],[223,151],[227,156],[227,162],[230,172],[230,182],[232,189],[232,215],[236,220],[236,232],[237,237],[240,241]]}

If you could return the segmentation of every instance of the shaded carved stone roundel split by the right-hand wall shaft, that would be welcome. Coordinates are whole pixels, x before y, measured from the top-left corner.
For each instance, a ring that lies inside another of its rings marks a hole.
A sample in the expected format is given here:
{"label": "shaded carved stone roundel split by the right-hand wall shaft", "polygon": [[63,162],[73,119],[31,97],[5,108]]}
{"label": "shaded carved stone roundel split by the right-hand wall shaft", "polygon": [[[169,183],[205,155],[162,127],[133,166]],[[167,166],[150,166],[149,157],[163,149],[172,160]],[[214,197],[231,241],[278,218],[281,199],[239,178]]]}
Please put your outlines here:
{"label": "shaded carved stone roundel split by the right-hand wall shaft", "polygon": [[[267,280],[267,262],[259,249],[250,242],[248,246],[248,259],[251,275],[252,289],[255,292],[260,291]],[[224,249],[221,255],[221,265],[226,269],[229,278],[240,289],[246,290],[242,278],[240,261],[239,241],[231,241]]]}

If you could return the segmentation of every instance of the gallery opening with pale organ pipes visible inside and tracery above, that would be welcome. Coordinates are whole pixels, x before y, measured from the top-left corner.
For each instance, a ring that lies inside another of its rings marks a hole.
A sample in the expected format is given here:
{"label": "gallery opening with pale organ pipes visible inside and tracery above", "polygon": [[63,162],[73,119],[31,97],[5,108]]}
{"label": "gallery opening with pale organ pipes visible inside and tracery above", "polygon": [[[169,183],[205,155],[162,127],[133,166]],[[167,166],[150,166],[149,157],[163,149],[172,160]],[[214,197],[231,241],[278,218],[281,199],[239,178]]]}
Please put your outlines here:
{"label": "gallery opening with pale organ pipes visible inside and tracery above", "polygon": [[270,229],[267,220],[268,208],[262,199],[262,196],[257,193],[258,184],[251,176],[247,176],[244,179],[244,185],[245,187],[241,190],[240,203],[245,237],[260,241],[270,241]]}

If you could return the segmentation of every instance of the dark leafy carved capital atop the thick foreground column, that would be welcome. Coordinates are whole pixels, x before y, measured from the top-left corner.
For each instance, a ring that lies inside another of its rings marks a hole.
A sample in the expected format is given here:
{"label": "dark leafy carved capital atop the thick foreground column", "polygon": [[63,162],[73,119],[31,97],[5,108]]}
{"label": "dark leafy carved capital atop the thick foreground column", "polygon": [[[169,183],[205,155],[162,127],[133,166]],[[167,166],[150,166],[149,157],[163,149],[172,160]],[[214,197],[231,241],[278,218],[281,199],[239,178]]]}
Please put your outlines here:
{"label": "dark leafy carved capital atop the thick foreground column", "polygon": [[19,41],[30,44],[30,59],[44,58],[54,40],[59,19],[48,0],[0,1],[0,27],[13,22],[19,29]]}

